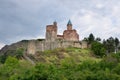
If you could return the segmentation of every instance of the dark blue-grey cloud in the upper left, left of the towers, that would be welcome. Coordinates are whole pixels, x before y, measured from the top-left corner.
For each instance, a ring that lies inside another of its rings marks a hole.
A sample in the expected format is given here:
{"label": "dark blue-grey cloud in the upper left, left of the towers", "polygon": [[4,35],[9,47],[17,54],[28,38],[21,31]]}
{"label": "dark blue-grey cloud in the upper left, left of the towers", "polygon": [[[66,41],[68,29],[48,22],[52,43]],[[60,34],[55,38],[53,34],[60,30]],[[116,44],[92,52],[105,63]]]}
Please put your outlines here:
{"label": "dark blue-grey cloud in the upper left, left of the towers", "polygon": [[63,20],[67,14],[56,3],[55,0],[0,1],[0,42],[9,44],[21,37],[44,36],[46,24]]}

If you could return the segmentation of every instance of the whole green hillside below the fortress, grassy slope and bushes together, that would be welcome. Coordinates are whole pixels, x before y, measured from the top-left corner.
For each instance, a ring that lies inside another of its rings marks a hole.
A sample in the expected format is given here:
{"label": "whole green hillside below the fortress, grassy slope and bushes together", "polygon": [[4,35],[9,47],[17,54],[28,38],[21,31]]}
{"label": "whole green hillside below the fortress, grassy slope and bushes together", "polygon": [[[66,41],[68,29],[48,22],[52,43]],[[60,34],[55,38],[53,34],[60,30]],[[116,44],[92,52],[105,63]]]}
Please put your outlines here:
{"label": "whole green hillside below the fortress, grassy slope and bushes together", "polygon": [[20,52],[0,63],[0,80],[120,80],[120,53],[100,58],[90,49],[72,47],[26,57]]}

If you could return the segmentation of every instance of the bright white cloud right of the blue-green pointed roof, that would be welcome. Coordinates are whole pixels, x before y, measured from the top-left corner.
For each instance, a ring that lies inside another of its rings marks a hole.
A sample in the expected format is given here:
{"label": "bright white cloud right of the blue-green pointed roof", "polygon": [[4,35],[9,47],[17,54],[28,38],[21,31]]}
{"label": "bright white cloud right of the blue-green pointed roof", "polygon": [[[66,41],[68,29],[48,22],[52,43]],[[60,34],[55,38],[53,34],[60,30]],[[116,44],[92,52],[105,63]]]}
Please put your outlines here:
{"label": "bright white cloud right of the blue-green pointed roof", "polygon": [[[84,14],[81,16],[80,13]],[[112,12],[110,14],[112,14]],[[81,34],[82,39],[84,38],[84,36],[87,36],[90,33],[94,33],[95,36],[105,39],[109,38],[110,36],[119,37],[119,25],[115,26],[119,23],[114,23],[113,18],[108,15],[103,16],[95,11],[82,10],[81,12],[78,11],[77,13],[75,13],[72,16],[72,20],[74,21],[76,26],[80,26],[79,28],[76,28],[77,30],[79,30],[79,34]]]}

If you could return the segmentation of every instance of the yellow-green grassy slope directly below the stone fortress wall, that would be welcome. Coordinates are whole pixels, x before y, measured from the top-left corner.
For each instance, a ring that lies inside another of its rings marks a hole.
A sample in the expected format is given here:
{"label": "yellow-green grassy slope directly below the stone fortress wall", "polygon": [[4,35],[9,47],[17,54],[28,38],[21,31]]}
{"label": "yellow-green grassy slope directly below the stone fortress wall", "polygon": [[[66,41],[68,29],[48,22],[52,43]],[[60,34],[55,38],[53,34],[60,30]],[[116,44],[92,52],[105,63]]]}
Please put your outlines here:
{"label": "yellow-green grassy slope directly below the stone fortress wall", "polygon": [[59,64],[63,60],[74,60],[75,62],[83,62],[85,60],[100,61],[92,54],[90,49],[80,48],[58,48],[54,50],[46,50],[44,52],[37,52],[34,56],[37,62],[47,62]]}

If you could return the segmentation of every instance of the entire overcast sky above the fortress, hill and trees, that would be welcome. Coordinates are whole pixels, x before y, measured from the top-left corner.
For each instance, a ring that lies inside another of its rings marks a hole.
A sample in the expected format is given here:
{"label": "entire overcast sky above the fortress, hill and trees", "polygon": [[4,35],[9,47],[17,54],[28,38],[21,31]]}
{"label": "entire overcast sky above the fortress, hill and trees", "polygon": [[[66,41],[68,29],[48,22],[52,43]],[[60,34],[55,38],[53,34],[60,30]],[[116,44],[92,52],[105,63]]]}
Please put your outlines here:
{"label": "entire overcast sky above the fortress, hill and trees", "polygon": [[0,48],[44,38],[46,25],[53,21],[62,34],[69,19],[80,40],[90,33],[120,39],[120,0],[0,0]]}

